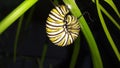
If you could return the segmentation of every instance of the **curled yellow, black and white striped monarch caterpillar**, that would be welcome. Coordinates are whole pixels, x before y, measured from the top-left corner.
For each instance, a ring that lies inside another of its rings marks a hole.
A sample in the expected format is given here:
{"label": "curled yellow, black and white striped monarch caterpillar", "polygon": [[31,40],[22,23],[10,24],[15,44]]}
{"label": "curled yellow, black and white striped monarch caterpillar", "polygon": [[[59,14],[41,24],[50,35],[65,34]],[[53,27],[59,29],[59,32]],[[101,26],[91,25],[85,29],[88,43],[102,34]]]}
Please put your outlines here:
{"label": "curled yellow, black and white striped monarch caterpillar", "polygon": [[59,5],[53,8],[46,22],[47,36],[55,45],[70,45],[79,35],[78,19],[69,14],[67,6]]}

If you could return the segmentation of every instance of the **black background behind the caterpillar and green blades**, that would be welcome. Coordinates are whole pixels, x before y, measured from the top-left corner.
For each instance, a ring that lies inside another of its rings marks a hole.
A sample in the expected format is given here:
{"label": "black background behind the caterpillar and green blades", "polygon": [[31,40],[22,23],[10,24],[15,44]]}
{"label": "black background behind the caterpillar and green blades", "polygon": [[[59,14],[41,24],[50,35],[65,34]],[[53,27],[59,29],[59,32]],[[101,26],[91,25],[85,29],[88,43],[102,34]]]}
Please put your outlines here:
{"label": "black background behind the caterpillar and green blades", "polygon": [[[24,0],[0,0],[0,20],[23,1]],[[115,0],[114,3],[118,9],[120,9],[118,1],[119,0]],[[84,15],[98,44],[104,68],[120,68],[119,61],[101,27],[95,4],[93,4],[91,0],[76,0],[76,2],[81,11],[83,13],[85,11],[89,12],[90,17],[93,19],[93,21],[91,21],[88,14]],[[119,23],[120,20],[112,8],[102,0],[100,3]],[[44,68],[49,68],[50,64],[53,68],[68,68],[74,45],[71,44],[67,47],[55,46],[48,40],[45,31],[46,18],[54,6],[49,0],[39,0],[34,7],[35,10],[32,19],[27,28],[25,28],[25,24],[30,10],[25,13],[17,46],[17,62],[15,64],[13,63],[13,44],[18,20],[0,36],[0,68],[38,68],[37,58],[41,57],[45,43],[47,43],[48,50]],[[120,31],[105,15],[104,17],[111,36],[120,52]],[[80,36],[81,48],[75,68],[93,68],[89,47],[82,32],[80,32]],[[29,57],[29,59],[23,58],[23,56]]]}

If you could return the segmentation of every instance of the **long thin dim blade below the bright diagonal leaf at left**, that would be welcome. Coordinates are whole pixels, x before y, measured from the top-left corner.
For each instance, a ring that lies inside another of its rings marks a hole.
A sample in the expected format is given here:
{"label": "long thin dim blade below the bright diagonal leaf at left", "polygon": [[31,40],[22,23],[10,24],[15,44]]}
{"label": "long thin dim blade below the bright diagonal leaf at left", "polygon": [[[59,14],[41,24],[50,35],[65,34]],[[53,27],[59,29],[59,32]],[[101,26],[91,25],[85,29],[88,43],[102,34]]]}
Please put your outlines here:
{"label": "long thin dim blade below the bright diagonal leaf at left", "polygon": [[18,40],[19,40],[19,35],[20,35],[20,30],[21,30],[21,26],[22,26],[22,21],[23,21],[24,15],[22,15],[19,19],[19,23],[18,23],[18,27],[17,27],[17,32],[16,32],[16,36],[15,36],[15,41],[14,41],[14,53],[13,53],[13,61],[14,63],[16,62],[16,53],[17,53],[17,44],[18,44]]}

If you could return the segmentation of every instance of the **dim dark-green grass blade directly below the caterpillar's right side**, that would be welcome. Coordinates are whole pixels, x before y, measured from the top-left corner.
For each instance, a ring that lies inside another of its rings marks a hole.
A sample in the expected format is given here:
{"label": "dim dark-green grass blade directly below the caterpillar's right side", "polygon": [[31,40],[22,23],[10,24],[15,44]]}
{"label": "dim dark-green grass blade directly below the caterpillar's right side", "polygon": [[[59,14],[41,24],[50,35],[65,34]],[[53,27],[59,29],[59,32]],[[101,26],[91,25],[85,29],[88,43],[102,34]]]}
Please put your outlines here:
{"label": "dim dark-green grass blade directly below the caterpillar's right side", "polygon": [[74,43],[74,50],[73,50],[69,68],[75,68],[75,64],[76,64],[77,58],[79,56],[79,51],[80,51],[80,37],[78,37]]}

